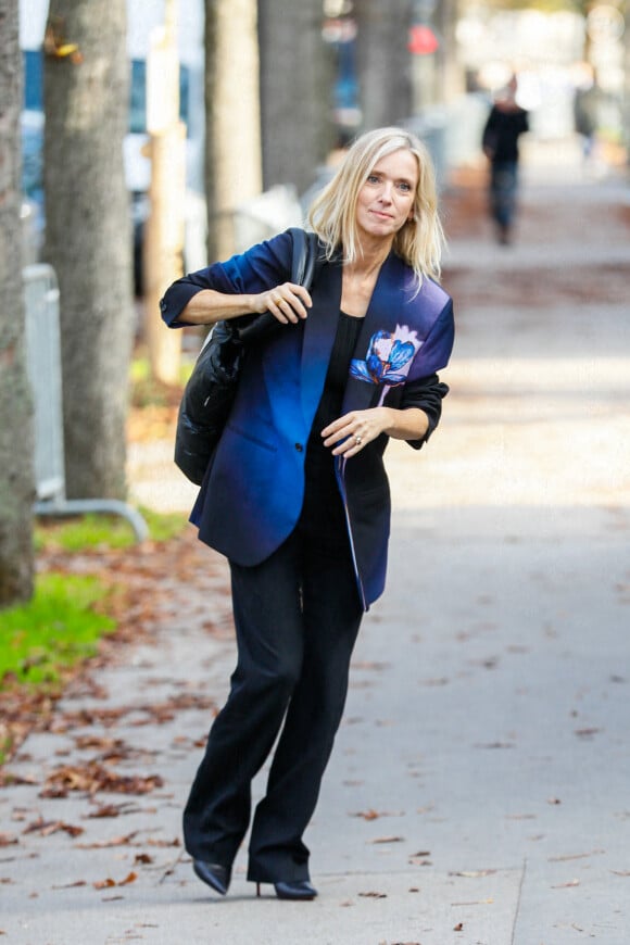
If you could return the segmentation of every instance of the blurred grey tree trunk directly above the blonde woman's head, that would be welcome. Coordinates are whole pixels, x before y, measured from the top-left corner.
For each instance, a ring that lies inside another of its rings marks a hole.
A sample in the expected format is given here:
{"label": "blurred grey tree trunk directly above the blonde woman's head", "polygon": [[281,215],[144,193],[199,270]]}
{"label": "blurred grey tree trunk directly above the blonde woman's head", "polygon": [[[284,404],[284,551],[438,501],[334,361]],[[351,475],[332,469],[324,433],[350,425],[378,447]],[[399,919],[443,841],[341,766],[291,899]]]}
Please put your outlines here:
{"label": "blurred grey tree trunk directly above the blonde woman's head", "polygon": [[355,5],[363,128],[398,125],[412,110],[411,0],[362,0]]}

